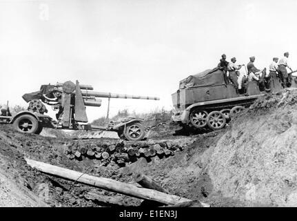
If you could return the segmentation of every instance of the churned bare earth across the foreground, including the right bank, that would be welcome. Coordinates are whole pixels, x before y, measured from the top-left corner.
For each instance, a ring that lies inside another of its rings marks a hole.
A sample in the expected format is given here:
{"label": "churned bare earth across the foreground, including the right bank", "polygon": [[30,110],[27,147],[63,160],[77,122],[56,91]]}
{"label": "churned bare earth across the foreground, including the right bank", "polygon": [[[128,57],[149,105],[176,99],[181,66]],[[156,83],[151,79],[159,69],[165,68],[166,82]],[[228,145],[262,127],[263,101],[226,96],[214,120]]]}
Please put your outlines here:
{"label": "churned bare earth across the foreground, including the right bank", "polygon": [[[23,135],[1,125],[0,193],[4,197],[0,204],[139,206],[142,203],[136,198],[44,175],[25,163],[25,155],[122,182],[133,182],[132,173],[141,171],[172,194],[212,206],[296,206],[296,101],[296,91],[267,95],[225,129],[200,135],[168,135],[168,131],[172,133],[172,125],[163,122],[152,129],[150,142],[167,145],[173,142],[181,148],[176,148],[173,156],[152,157],[150,162],[139,157],[125,167],[112,162],[102,166],[101,160],[88,157],[70,160],[65,155],[69,146],[121,140]],[[141,142],[137,145],[141,146]],[[12,191],[5,189],[6,184]],[[15,200],[20,198],[18,195],[25,200]]]}

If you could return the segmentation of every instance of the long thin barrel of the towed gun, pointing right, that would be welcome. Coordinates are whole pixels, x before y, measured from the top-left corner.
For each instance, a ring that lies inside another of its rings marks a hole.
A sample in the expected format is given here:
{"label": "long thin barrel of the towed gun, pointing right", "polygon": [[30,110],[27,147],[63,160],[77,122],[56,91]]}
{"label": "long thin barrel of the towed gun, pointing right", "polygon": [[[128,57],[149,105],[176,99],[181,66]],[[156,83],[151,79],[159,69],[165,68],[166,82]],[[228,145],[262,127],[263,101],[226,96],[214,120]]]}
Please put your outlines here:
{"label": "long thin barrel of the towed gun, pointing right", "polygon": [[123,98],[123,99],[154,99],[154,100],[160,99],[158,97],[123,95],[123,94],[96,92],[96,91],[89,91],[89,90],[81,90],[81,94],[86,97],[94,96],[94,97]]}

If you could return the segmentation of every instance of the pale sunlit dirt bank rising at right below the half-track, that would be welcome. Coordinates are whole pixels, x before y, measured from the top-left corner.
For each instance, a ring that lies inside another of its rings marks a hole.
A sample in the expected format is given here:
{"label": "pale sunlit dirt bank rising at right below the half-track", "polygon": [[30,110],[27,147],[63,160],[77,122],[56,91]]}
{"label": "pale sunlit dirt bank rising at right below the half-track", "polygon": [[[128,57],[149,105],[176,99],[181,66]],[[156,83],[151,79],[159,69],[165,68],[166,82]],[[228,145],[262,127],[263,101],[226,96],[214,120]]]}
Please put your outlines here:
{"label": "pale sunlit dirt bank rising at right below the half-track", "polygon": [[247,206],[297,206],[297,91],[267,95],[201,159],[214,191]]}

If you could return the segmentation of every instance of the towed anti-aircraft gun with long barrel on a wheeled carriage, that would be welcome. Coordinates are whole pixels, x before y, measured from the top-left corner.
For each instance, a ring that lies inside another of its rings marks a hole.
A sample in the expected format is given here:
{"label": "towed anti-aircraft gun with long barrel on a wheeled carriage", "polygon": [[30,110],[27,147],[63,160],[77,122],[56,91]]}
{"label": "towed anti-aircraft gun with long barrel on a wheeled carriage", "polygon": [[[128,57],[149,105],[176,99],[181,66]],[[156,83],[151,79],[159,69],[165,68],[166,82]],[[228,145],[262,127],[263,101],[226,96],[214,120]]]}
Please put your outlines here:
{"label": "towed anti-aircraft gun with long barrel on a wheeled carriage", "polygon": [[[21,111],[13,117],[7,117],[6,122],[22,133],[41,133],[43,127],[70,129],[70,130],[105,130],[116,131],[126,140],[142,140],[145,137],[145,128],[141,124],[143,119],[129,117],[121,122],[110,122],[107,126],[88,124],[86,106],[101,106],[99,97],[123,99],[153,99],[158,97],[121,95],[93,91],[90,85],[81,85],[79,81],[42,85],[40,90],[23,95],[25,102],[29,102],[28,111]],[[56,118],[45,115],[48,110],[45,106],[52,106],[57,111]]]}

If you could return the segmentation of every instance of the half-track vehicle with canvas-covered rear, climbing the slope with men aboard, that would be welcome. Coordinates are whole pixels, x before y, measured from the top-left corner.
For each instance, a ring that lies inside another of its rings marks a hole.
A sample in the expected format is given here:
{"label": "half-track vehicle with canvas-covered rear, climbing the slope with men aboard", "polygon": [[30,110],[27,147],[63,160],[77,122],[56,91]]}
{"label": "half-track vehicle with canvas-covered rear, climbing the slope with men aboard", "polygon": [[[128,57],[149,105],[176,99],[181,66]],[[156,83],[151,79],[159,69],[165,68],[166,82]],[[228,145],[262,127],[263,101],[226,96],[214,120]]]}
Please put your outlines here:
{"label": "half-track vehicle with canvas-covered rear, climbing the slope with men aboard", "polygon": [[[297,87],[296,77],[290,77],[291,87]],[[225,81],[223,70],[220,68],[190,75],[179,82],[178,90],[172,94],[172,119],[183,126],[221,129],[232,116],[267,93],[265,88],[260,91],[257,81],[247,81],[245,88],[246,92],[240,94],[234,84]],[[269,93],[282,89],[280,79],[272,77]]]}

